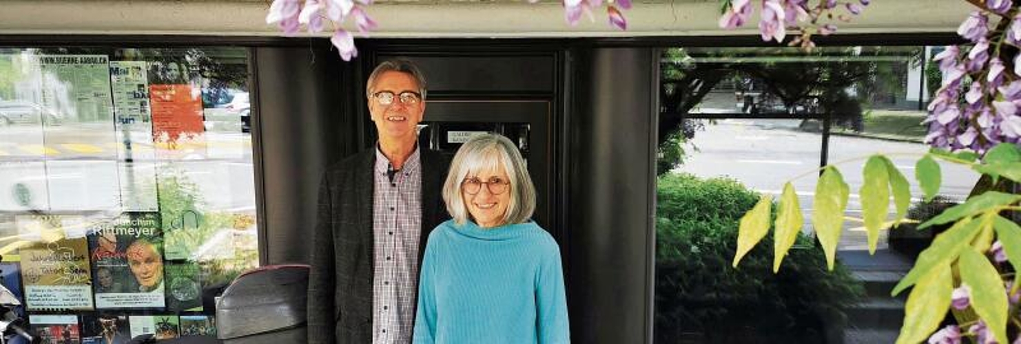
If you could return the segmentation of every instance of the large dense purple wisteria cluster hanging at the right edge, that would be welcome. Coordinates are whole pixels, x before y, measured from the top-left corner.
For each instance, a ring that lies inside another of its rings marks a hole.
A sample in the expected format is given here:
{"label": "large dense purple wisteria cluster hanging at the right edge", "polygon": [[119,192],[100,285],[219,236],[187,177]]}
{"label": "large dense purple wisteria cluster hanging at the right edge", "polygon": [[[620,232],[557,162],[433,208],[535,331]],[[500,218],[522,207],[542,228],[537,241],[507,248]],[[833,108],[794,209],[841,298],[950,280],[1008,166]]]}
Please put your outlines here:
{"label": "large dense purple wisteria cluster hanging at the right edge", "polygon": [[984,153],[998,143],[1021,143],[1021,14],[1011,0],[969,2],[979,9],[958,35],[971,44],[949,46],[933,58],[943,78],[929,104],[925,142]]}

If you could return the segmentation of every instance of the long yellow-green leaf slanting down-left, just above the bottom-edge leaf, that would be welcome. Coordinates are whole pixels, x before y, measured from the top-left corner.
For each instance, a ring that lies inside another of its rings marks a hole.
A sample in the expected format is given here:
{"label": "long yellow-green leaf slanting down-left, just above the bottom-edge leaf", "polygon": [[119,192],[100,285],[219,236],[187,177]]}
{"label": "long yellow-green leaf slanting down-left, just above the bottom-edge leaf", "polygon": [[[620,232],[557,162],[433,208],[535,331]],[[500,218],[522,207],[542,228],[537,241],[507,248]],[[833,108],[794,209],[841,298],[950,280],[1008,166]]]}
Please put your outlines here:
{"label": "long yellow-green leaf slanting down-left, just above the bottom-edge leaf", "polygon": [[932,245],[929,245],[928,248],[918,255],[918,259],[915,260],[915,266],[908,272],[908,276],[905,276],[893,287],[890,295],[896,296],[896,294],[900,294],[918,282],[920,278],[929,274],[932,268],[942,264],[950,264],[954,259],[957,259],[961,251],[971,243],[971,239],[978,234],[980,223],[979,220],[972,220],[970,217],[965,217],[954,224],[954,227],[951,227],[946,232],[936,236],[936,239],[932,241]]}

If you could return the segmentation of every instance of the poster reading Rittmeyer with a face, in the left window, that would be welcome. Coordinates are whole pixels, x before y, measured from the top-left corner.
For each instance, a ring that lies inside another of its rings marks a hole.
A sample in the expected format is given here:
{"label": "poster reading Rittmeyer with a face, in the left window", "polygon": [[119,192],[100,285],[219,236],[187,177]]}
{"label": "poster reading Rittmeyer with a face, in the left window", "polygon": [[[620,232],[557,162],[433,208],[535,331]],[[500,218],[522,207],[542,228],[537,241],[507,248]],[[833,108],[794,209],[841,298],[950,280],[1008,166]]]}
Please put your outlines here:
{"label": "poster reading Rittmeyer with a face, in the left window", "polygon": [[158,212],[125,212],[89,229],[96,308],[165,305]]}

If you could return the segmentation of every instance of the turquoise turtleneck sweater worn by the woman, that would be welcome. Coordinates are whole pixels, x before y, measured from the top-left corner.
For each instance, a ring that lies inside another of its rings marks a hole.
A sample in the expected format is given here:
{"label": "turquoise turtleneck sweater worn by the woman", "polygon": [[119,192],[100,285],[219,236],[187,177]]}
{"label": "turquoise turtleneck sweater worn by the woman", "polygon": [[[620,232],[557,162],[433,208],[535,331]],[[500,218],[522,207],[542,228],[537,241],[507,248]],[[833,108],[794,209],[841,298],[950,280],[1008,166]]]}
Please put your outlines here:
{"label": "turquoise turtleneck sweater worn by the woman", "polygon": [[556,242],[534,222],[429,235],[415,343],[570,343]]}

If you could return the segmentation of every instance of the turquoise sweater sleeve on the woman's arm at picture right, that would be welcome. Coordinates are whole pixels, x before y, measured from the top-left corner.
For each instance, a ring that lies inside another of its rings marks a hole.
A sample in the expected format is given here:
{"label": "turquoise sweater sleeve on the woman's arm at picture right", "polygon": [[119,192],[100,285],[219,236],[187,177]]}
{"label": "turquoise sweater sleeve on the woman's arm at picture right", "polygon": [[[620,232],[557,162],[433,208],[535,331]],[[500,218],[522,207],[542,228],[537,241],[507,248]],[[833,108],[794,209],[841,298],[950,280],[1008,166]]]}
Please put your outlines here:
{"label": "turquoise sweater sleeve on the woman's arm at picture right", "polygon": [[[550,238],[552,241],[552,238]],[[564,288],[561,251],[555,243],[543,254],[536,281],[536,329],[539,344],[571,343],[568,302]]]}

